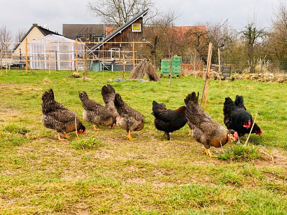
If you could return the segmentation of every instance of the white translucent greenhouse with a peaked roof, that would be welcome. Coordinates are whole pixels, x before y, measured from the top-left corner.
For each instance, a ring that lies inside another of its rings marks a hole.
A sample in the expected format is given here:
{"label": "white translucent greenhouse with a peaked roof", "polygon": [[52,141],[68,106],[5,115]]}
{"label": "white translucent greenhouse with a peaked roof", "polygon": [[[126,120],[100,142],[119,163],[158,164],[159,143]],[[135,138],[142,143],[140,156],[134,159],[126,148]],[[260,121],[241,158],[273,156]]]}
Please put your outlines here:
{"label": "white translucent greenhouse with a peaked roof", "polygon": [[[29,43],[30,68],[57,70],[75,70],[75,40],[60,35],[49,34]],[[57,44],[56,44],[57,43]],[[78,57],[83,54],[83,44],[78,44]],[[57,62],[57,64],[56,64]]]}

